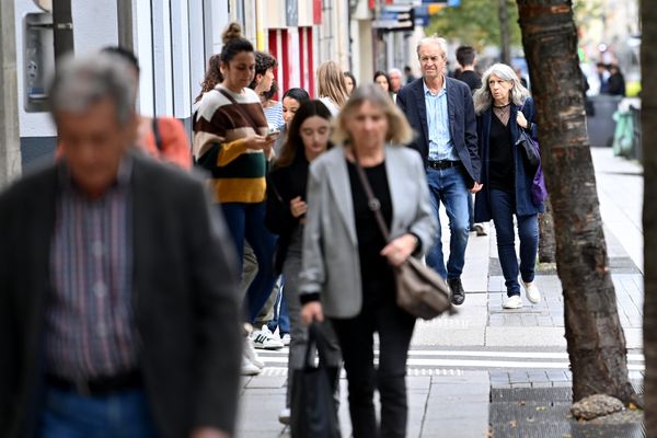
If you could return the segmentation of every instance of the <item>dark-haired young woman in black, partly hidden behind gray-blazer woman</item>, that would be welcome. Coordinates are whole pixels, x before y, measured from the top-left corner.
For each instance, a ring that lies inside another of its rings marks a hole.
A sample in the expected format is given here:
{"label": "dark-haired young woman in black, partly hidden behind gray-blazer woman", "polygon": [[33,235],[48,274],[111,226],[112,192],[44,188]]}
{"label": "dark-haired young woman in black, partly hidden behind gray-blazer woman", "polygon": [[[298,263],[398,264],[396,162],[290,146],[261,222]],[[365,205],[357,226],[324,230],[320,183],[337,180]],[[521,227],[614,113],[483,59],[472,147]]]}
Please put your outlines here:
{"label": "dark-haired young woman in black, partly hidden behind gray-blazer woman", "polygon": [[[297,94],[299,95],[299,94]],[[308,328],[301,323],[299,272],[301,269],[303,224],[308,209],[306,186],[310,163],[331,148],[331,112],[320,101],[302,102],[292,118],[280,157],[269,173],[267,185],[267,228],[277,233],[276,268],[285,278],[284,293],[290,319],[290,350],[286,407],[279,415],[281,423],[289,420],[292,370],[303,367]],[[283,306],[283,304],[281,304]],[[332,365],[339,365],[339,348],[327,324],[323,326],[332,347]]]}

